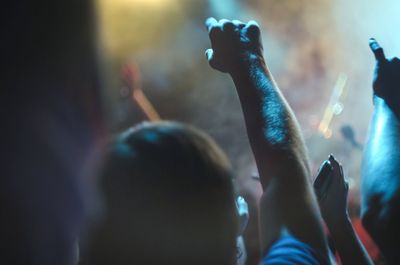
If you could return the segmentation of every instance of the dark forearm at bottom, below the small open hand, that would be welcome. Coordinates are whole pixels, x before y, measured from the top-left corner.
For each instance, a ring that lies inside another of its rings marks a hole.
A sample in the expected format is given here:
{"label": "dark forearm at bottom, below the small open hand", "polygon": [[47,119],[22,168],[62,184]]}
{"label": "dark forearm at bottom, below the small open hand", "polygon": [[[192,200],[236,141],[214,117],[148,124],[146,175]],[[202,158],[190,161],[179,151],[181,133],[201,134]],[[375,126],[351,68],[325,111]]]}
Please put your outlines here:
{"label": "dark forearm at bottom, below the small open hand", "polygon": [[348,217],[335,224],[327,224],[333,244],[343,265],[373,265]]}

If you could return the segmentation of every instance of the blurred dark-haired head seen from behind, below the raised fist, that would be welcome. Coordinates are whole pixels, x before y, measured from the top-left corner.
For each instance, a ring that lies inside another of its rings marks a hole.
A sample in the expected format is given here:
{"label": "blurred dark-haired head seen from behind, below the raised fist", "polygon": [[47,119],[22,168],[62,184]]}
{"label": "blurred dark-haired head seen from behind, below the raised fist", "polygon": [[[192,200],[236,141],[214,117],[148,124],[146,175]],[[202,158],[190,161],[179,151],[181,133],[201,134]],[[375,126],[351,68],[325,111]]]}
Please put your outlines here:
{"label": "blurred dark-haired head seen from behind, below the raised fist", "polygon": [[100,186],[92,264],[234,262],[231,167],[206,134],[172,122],[129,129],[112,143]]}

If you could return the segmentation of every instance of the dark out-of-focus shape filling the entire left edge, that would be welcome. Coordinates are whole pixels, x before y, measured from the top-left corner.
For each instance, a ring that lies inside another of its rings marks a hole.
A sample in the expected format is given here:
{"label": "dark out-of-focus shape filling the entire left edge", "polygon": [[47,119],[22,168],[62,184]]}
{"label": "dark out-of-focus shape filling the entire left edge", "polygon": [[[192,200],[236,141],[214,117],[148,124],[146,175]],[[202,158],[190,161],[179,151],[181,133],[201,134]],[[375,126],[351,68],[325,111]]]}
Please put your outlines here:
{"label": "dark out-of-focus shape filling the entire left edge", "polygon": [[2,264],[74,264],[103,120],[94,2],[2,4]]}

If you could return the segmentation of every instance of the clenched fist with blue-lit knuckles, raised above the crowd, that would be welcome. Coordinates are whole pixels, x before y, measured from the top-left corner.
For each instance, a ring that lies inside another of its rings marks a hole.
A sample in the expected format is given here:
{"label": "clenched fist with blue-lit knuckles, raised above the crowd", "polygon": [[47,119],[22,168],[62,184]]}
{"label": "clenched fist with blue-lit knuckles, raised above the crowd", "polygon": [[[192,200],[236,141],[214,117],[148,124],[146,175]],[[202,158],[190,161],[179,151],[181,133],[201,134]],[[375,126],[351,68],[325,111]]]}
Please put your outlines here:
{"label": "clenched fist with blue-lit knuckles, raised above the crowd", "polygon": [[257,22],[208,18],[205,24],[212,47],[206,50],[206,56],[212,68],[231,73],[243,61],[262,58],[263,47]]}

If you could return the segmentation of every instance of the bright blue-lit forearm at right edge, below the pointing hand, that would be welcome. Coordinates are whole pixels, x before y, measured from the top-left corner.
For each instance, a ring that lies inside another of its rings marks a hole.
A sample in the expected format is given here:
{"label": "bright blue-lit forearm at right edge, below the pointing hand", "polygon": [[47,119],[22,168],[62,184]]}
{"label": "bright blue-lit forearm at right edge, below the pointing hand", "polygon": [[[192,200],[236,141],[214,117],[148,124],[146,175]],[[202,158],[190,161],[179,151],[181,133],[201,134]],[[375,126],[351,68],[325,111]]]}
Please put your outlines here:
{"label": "bright blue-lit forearm at right edge, below the pointing hand", "polygon": [[389,258],[398,255],[388,252],[395,249],[390,245],[394,240],[388,238],[399,234],[400,124],[382,98],[375,97],[374,105],[362,163],[361,217],[365,229]]}

